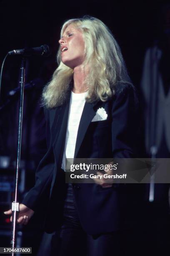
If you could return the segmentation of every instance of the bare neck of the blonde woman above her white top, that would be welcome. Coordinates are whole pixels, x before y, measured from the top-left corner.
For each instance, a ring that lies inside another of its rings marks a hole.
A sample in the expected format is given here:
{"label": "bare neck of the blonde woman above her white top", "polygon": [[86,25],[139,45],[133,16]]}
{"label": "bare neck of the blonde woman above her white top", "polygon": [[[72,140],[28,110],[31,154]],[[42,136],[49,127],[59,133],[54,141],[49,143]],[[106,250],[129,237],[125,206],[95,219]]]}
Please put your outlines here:
{"label": "bare neck of the blonde woman above her white top", "polygon": [[73,92],[74,93],[82,93],[86,92],[88,90],[87,84],[85,84],[85,78],[87,76],[87,70],[84,66],[80,65],[78,67],[74,68],[74,87]]}

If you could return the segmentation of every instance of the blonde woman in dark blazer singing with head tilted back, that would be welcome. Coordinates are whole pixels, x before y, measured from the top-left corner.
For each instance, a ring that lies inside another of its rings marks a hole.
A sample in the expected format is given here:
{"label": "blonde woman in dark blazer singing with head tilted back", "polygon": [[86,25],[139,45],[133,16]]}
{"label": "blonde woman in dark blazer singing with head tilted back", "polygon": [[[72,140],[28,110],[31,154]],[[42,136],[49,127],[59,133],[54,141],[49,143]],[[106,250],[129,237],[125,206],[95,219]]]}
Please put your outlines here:
{"label": "blonde woman in dark blazer singing with head tilted back", "polygon": [[117,256],[120,230],[135,215],[135,192],[98,180],[66,184],[65,159],[132,158],[138,100],[120,48],[101,20],[67,20],[59,44],[59,65],[42,95],[48,150],[18,223],[27,224],[45,205],[45,231],[56,231],[52,255]]}

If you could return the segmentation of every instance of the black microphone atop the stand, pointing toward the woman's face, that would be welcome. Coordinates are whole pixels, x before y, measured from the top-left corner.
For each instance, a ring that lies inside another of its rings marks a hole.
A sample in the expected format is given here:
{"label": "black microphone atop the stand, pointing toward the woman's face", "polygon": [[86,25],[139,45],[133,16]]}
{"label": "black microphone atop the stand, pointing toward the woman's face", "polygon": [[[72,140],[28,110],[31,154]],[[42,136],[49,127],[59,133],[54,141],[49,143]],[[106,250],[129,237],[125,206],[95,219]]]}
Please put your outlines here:
{"label": "black microphone atop the stand, pointing toward the woman's face", "polygon": [[8,51],[8,55],[23,55],[25,57],[29,57],[32,55],[49,56],[50,48],[47,44],[43,44],[40,47]]}

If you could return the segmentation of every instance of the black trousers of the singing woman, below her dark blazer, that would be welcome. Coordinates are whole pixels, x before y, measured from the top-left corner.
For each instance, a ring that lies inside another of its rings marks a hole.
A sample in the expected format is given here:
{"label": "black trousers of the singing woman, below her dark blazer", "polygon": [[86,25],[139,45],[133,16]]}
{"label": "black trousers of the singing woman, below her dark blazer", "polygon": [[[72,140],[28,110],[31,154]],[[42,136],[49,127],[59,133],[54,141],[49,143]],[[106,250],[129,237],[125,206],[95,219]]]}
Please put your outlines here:
{"label": "black trousers of the singing woman, below her dark blazer", "polygon": [[82,229],[74,202],[72,184],[68,184],[64,221],[60,234],[52,237],[51,256],[120,256],[120,233],[88,235]]}

